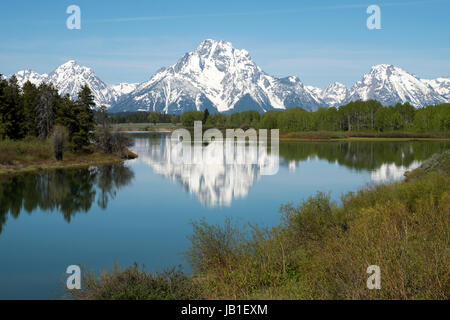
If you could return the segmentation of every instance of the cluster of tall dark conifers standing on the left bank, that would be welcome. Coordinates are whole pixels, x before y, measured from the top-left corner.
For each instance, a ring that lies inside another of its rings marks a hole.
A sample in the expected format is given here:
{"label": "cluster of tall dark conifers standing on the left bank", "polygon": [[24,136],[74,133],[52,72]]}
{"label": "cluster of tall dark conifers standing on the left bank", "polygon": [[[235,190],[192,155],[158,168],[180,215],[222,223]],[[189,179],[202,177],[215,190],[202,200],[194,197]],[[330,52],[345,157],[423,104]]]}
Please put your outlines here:
{"label": "cluster of tall dark conifers standing on the left bank", "polygon": [[0,75],[0,139],[47,139],[59,127],[67,133],[70,148],[82,150],[91,143],[94,106],[87,86],[71,100],[69,95],[61,97],[52,85],[37,87],[27,81],[21,88],[15,76],[7,81]]}

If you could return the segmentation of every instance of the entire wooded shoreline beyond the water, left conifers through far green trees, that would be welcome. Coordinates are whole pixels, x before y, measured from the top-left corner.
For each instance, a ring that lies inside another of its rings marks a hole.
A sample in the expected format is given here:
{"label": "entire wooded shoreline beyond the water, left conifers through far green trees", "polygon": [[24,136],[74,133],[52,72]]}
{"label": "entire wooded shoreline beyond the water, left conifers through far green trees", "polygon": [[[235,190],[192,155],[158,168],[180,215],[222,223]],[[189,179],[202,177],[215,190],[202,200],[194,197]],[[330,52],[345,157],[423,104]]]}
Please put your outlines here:
{"label": "entire wooded shoreline beyond the water, left conifers through far green trees", "polygon": [[408,103],[385,107],[369,100],[316,111],[108,114],[104,106],[95,109],[87,86],[73,100],[45,83],[28,81],[20,87],[13,76],[0,80],[0,174],[133,158],[129,138],[113,131],[171,131],[191,128],[194,121],[202,121],[205,129],[279,129],[281,140],[447,139],[450,104],[416,109]]}

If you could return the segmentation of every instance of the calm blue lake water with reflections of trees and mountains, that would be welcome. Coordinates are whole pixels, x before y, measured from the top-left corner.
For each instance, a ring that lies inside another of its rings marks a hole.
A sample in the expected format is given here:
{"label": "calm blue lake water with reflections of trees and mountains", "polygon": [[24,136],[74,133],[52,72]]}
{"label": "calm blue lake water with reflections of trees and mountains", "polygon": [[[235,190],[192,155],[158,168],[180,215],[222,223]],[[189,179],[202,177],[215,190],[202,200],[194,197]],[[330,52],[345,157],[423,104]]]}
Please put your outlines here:
{"label": "calm blue lake water with reflections of trees and mountains", "polygon": [[316,191],[334,200],[401,179],[445,142],[280,143],[276,175],[255,165],[182,166],[165,134],[134,135],[139,158],[121,166],[0,177],[0,299],[59,298],[68,265],[90,270],[182,264],[190,221],[225,217],[273,225],[278,209]]}

